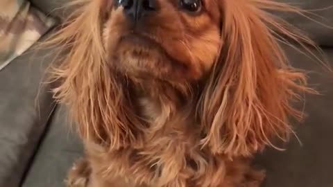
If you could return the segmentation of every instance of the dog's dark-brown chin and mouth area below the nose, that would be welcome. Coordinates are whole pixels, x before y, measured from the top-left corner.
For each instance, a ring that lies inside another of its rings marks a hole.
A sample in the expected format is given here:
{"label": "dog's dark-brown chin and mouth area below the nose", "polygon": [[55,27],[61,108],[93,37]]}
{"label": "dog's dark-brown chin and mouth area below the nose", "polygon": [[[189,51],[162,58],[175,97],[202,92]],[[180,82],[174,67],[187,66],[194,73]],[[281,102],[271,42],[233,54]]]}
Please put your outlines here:
{"label": "dog's dark-brown chin and mouth area below the nose", "polygon": [[114,68],[128,77],[172,82],[189,79],[189,68],[148,37],[121,37],[112,58]]}

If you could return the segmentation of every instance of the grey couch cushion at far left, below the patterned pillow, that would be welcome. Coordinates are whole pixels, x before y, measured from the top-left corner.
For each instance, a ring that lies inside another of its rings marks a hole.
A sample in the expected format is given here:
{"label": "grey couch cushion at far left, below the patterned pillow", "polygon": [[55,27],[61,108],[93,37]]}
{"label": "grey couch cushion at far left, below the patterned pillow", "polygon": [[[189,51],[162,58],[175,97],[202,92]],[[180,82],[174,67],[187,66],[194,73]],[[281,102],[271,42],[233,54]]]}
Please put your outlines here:
{"label": "grey couch cushion at far left, below the patterned pillow", "polygon": [[40,84],[46,54],[28,51],[0,71],[0,186],[19,185],[54,107]]}

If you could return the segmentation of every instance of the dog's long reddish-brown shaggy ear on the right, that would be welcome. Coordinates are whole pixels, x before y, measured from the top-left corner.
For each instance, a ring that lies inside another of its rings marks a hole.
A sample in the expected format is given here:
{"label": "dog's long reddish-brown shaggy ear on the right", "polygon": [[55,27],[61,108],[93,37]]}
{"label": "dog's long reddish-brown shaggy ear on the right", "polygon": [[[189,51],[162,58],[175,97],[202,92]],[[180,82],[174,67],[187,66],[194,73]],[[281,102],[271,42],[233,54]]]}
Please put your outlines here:
{"label": "dog's long reddish-brown shaggy ear on the right", "polygon": [[268,0],[221,0],[221,54],[198,110],[205,131],[202,143],[216,154],[248,156],[273,145],[275,136],[287,140],[289,116],[301,117],[291,103],[300,92],[311,91],[305,75],[287,64],[278,42],[289,37],[313,43],[264,9],[300,11]]}

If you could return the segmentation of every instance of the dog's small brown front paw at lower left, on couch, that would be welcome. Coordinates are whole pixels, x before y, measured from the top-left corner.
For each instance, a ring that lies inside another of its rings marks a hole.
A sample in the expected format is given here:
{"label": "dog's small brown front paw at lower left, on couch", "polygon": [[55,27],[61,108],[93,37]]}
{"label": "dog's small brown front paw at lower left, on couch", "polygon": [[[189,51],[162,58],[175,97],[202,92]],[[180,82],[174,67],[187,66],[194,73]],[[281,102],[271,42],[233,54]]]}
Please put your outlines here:
{"label": "dog's small brown front paw at lower left, on couch", "polygon": [[67,187],[87,187],[90,174],[89,162],[85,159],[80,159],[69,170],[65,184]]}

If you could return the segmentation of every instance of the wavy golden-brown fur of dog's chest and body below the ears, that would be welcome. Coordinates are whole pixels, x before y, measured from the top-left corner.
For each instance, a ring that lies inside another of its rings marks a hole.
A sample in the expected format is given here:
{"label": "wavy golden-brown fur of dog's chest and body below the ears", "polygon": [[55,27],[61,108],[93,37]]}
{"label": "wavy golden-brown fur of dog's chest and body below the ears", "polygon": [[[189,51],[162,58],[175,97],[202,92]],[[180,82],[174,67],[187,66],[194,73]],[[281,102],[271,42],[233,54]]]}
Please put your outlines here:
{"label": "wavy golden-brown fur of dog's chest and body below the ears", "polygon": [[169,111],[172,109],[168,106],[148,98],[141,98],[139,103],[151,124],[142,143],[109,152],[100,145],[86,144],[99,181],[112,186],[108,181],[123,180],[130,187],[216,186],[229,181],[228,175],[242,175],[239,171],[245,165],[241,162],[234,164],[201,147],[194,116]]}

